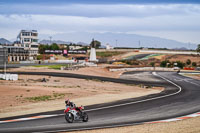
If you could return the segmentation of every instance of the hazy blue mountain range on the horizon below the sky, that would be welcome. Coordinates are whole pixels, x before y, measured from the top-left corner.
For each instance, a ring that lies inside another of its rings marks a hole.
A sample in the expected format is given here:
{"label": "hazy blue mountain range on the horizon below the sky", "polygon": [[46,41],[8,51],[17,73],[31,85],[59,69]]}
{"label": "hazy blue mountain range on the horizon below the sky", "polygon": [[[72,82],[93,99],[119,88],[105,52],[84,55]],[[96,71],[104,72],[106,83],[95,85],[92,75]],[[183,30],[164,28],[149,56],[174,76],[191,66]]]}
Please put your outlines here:
{"label": "hazy blue mountain range on the horizon below the sky", "polygon": [[[47,35],[40,35],[41,38],[48,38]],[[70,42],[76,42],[81,40],[86,44],[90,44],[92,39],[98,40],[102,45],[107,43],[114,47],[129,47],[129,48],[138,48],[138,47],[147,47],[147,48],[168,48],[168,49],[196,49],[197,45],[192,43],[184,43],[175,40],[153,37],[153,36],[144,36],[137,34],[126,34],[126,33],[90,33],[90,32],[79,32],[79,33],[61,33],[55,34],[53,38],[57,40],[70,40]]]}

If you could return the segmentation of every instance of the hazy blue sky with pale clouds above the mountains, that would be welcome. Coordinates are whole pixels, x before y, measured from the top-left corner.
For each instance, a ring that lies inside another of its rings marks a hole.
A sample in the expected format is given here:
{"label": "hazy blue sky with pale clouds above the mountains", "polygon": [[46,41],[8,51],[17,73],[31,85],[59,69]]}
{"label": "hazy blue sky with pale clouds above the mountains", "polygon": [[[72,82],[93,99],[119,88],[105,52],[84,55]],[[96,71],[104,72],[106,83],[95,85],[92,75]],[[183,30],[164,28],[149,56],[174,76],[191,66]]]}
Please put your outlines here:
{"label": "hazy blue sky with pale clouds above the mountains", "polygon": [[[199,44],[200,0],[0,0],[0,38],[15,39],[21,29],[41,36],[112,32]],[[62,40],[81,41],[79,34]]]}

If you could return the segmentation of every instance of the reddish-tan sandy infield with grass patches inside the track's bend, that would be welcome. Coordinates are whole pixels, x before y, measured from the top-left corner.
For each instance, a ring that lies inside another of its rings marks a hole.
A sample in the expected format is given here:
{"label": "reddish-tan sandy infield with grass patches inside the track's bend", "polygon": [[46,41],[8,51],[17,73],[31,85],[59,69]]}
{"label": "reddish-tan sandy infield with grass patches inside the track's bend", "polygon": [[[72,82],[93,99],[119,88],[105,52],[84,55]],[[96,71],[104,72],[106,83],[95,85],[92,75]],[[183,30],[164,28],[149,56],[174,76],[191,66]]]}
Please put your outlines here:
{"label": "reddish-tan sandy infield with grass patches inside the track's bend", "polygon": [[[23,69],[61,72],[47,68],[18,68],[20,71]],[[83,68],[73,73],[85,74],[86,70],[87,74],[91,75],[119,76],[118,73],[109,72],[103,68]],[[41,82],[43,78],[47,82]],[[66,98],[77,105],[91,105],[159,93],[162,90],[163,88],[159,87],[146,89],[98,80],[19,75],[18,81],[0,80],[0,117],[63,109]]]}

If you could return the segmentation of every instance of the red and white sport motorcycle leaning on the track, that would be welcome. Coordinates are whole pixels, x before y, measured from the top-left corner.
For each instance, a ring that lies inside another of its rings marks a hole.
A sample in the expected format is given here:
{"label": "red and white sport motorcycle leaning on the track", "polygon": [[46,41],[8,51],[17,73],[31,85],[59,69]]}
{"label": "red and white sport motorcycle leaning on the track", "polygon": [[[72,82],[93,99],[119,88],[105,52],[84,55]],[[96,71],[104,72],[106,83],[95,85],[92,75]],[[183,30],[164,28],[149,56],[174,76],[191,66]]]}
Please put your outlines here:
{"label": "red and white sport motorcycle leaning on the track", "polygon": [[74,120],[82,120],[83,122],[87,122],[89,119],[87,113],[84,112],[83,106],[77,108],[71,108],[69,106],[66,106],[64,113],[65,113],[65,120],[68,123],[73,123]]}

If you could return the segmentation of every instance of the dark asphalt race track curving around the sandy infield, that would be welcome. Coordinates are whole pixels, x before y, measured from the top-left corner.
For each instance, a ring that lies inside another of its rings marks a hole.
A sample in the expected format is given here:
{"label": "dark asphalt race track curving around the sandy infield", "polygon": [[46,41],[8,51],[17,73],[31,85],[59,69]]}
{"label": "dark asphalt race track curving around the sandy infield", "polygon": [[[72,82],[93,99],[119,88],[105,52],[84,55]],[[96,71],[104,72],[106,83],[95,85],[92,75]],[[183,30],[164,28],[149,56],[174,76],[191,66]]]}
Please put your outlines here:
{"label": "dark asphalt race track curving around the sandy infield", "polygon": [[[129,72],[126,74],[134,73],[135,72]],[[28,116],[35,115],[61,114],[49,118],[27,120],[21,122],[0,123],[0,132],[59,132],[117,127],[175,118],[200,111],[199,80],[184,77],[178,75],[175,72],[150,73],[152,73],[152,77],[161,79],[160,82],[149,82],[142,80],[134,81],[127,79],[114,79],[68,73],[18,72],[18,74],[49,75],[82,79],[99,79],[102,81],[124,84],[163,86],[165,87],[165,90],[159,94],[148,95],[140,98],[132,98],[112,103],[87,106],[85,107],[85,109],[89,115],[89,121],[86,123],[67,123],[65,121],[64,115],[62,115],[63,110],[11,118],[3,118],[0,119],[0,121],[16,118],[25,118]]]}

